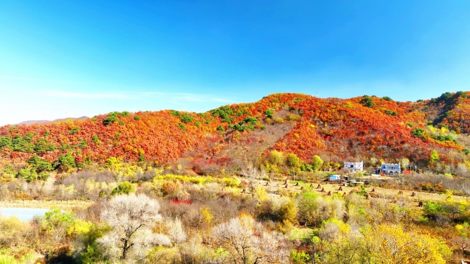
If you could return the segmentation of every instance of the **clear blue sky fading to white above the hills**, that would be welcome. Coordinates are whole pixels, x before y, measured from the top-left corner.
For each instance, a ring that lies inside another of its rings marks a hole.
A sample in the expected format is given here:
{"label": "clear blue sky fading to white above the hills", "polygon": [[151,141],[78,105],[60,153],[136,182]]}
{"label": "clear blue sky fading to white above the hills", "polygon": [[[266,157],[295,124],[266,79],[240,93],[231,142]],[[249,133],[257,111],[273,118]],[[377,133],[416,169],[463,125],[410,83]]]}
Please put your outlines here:
{"label": "clear blue sky fading to white above the hills", "polygon": [[1,1],[0,125],[470,91],[470,1]]}

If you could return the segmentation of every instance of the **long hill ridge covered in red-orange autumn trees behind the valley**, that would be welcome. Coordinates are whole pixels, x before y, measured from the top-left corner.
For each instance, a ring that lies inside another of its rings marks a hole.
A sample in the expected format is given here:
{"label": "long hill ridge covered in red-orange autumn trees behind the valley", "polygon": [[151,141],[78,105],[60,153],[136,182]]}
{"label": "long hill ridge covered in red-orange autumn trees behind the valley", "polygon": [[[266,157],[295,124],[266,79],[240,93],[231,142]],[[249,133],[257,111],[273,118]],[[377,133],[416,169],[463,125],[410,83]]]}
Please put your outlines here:
{"label": "long hill ridge covered in red-orange autumn trees behind the valley", "polygon": [[[181,163],[210,173],[259,162],[276,150],[311,163],[344,160],[399,162],[420,167],[457,167],[469,157],[469,92],[445,93],[417,102],[390,97],[317,98],[273,94],[249,104],[204,113],[163,110],[112,112],[91,119],[0,128],[1,163],[24,163],[34,155],[56,168],[106,163]],[[430,158],[433,152],[436,156]],[[1,164],[0,163],[0,164]]]}

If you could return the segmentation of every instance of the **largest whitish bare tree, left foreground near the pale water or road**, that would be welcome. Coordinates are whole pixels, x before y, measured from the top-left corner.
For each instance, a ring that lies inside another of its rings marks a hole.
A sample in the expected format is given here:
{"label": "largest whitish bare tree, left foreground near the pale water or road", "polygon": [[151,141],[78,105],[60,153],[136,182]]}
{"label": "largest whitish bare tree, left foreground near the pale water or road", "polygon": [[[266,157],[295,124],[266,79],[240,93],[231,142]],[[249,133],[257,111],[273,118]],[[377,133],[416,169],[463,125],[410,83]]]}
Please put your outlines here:
{"label": "largest whitish bare tree, left foreground near the pale water or road", "polygon": [[148,245],[169,244],[170,239],[161,234],[153,234],[150,224],[161,220],[159,203],[146,195],[116,195],[104,206],[101,220],[111,228],[111,232],[98,241],[109,257],[119,252],[125,260],[129,250],[144,254]]}

